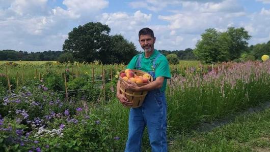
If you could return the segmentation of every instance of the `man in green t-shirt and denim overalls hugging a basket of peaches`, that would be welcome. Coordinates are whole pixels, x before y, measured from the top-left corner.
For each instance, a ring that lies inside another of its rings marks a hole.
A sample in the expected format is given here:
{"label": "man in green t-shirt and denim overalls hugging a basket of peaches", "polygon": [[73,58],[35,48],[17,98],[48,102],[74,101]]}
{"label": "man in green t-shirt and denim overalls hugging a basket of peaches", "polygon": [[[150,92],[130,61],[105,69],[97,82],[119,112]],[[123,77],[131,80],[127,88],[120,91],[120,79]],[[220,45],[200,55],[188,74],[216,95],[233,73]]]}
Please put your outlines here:
{"label": "man in green t-shirt and denim overalls hugging a basket of peaches", "polygon": [[[154,49],[155,36],[150,28],[139,31],[139,43],[144,49],[142,54],[134,56],[127,68],[139,69],[148,72],[154,81],[137,86],[136,83],[123,82],[127,89],[147,90],[143,105],[138,108],[130,108],[128,121],[128,139],[125,151],[141,151],[142,135],[147,127],[152,151],[167,151],[167,103],[165,89],[167,79],[171,78],[167,58]],[[128,99],[121,94],[120,82],[117,83],[117,97],[124,105],[132,105]]]}

